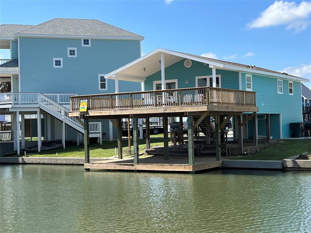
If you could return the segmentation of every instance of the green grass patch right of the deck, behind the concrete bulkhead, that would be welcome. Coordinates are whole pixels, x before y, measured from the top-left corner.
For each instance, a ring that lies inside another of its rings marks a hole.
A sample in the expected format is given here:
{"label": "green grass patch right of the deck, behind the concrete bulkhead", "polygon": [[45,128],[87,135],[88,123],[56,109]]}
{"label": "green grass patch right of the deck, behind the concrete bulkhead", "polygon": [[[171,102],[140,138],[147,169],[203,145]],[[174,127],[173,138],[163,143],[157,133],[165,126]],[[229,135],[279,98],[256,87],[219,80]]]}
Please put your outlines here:
{"label": "green grass patch right of the deck, behind the concrete bulkhead", "polygon": [[311,140],[287,139],[279,140],[261,151],[248,156],[240,156],[230,159],[243,160],[283,160],[300,153],[311,152]]}

